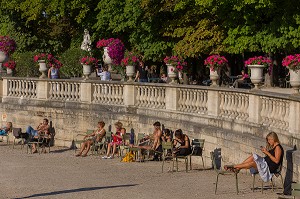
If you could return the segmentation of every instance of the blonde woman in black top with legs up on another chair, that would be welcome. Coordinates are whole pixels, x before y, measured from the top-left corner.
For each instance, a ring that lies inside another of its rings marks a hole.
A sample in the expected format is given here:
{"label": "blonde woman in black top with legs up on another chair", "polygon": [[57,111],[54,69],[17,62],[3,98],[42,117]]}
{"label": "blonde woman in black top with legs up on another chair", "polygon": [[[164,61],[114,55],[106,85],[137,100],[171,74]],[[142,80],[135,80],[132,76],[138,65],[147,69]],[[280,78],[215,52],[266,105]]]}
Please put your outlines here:
{"label": "blonde woman in black top with legs up on another chair", "polygon": [[260,147],[260,150],[266,155],[265,157],[254,153],[242,163],[231,166],[227,165],[224,166],[224,169],[234,172],[239,172],[241,169],[250,169],[252,174],[258,171],[264,182],[270,181],[272,179],[272,173],[275,173],[282,164],[284,150],[275,132],[270,132],[266,136],[266,142],[266,147]]}

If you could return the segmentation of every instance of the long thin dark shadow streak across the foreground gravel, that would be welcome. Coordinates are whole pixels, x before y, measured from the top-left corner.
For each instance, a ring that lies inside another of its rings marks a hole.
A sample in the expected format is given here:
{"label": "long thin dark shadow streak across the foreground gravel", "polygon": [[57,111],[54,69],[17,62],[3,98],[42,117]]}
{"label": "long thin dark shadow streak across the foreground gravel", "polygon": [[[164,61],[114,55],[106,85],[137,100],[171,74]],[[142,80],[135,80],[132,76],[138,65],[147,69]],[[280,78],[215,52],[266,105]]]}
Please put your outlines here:
{"label": "long thin dark shadow streak across the foreground gravel", "polygon": [[125,184],[125,185],[115,185],[115,186],[106,186],[106,187],[87,187],[87,188],[79,188],[79,189],[69,189],[69,190],[63,190],[63,191],[53,191],[48,193],[39,193],[39,194],[33,194],[31,196],[25,196],[21,198],[14,198],[14,199],[24,199],[24,198],[34,198],[34,197],[42,197],[42,196],[53,196],[53,195],[60,195],[60,194],[66,194],[66,193],[76,193],[76,192],[82,192],[82,191],[94,191],[94,190],[100,190],[100,189],[112,189],[112,188],[119,188],[119,187],[132,187],[136,186],[138,184]]}

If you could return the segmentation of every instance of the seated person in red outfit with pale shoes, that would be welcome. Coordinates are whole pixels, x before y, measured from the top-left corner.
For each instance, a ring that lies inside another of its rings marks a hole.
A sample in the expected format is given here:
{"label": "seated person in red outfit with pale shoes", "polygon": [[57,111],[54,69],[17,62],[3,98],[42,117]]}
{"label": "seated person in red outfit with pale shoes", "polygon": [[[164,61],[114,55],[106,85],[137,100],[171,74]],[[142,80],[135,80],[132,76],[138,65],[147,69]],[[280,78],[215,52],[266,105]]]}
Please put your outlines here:
{"label": "seated person in red outfit with pale shoes", "polygon": [[[117,150],[117,146],[123,143],[123,135],[126,133],[126,129],[123,128],[121,122],[115,123],[116,133],[112,134],[112,141],[107,145],[107,154],[103,156],[102,159],[113,159]],[[113,152],[110,155],[110,149],[113,147]]]}

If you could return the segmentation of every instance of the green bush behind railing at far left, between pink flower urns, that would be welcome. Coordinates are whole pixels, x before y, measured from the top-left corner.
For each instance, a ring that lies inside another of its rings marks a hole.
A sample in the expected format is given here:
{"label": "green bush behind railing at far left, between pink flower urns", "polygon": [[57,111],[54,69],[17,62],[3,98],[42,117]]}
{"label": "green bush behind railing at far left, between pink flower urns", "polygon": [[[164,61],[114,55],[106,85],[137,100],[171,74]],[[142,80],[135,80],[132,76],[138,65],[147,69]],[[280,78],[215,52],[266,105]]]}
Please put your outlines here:
{"label": "green bush behind railing at far left, between pink flower urns", "polygon": [[15,76],[17,77],[38,77],[39,67],[34,62],[35,52],[14,53],[12,59],[16,62]]}

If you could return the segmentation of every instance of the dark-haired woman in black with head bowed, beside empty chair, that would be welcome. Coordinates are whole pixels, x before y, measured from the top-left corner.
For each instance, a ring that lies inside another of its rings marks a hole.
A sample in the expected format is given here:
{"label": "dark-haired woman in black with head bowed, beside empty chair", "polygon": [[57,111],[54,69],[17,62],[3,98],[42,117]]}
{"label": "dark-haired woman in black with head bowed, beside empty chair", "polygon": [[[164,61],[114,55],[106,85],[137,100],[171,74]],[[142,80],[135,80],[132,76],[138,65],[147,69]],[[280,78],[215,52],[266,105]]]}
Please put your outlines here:
{"label": "dark-haired woman in black with head bowed, beside empty chair", "polygon": [[173,145],[175,146],[175,149],[173,150],[175,156],[186,156],[192,153],[190,138],[183,134],[181,129],[175,131]]}

